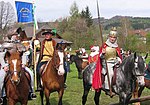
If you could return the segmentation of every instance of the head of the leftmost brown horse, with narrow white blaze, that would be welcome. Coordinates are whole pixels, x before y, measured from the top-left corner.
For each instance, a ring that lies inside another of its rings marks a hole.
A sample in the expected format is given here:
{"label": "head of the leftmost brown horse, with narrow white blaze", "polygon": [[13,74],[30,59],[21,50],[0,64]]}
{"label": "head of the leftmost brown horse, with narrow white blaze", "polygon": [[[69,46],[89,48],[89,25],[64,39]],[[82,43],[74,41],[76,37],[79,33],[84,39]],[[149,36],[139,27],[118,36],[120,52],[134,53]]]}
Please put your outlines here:
{"label": "head of the leftmost brown horse, with narrow white blaze", "polygon": [[7,60],[9,64],[9,72],[10,72],[10,78],[13,83],[18,84],[20,81],[21,76],[21,60],[22,53],[19,52],[13,52],[9,53],[6,52],[5,59]]}

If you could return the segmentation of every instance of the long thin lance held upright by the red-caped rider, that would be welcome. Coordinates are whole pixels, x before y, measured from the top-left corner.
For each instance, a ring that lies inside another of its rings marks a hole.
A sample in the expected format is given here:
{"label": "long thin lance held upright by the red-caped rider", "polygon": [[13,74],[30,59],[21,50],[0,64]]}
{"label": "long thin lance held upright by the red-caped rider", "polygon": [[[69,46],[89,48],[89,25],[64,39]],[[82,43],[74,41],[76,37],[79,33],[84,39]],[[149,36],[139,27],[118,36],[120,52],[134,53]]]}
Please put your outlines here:
{"label": "long thin lance held upright by the red-caped rider", "polygon": [[[102,36],[102,26],[101,26],[101,23],[100,23],[100,12],[99,12],[98,0],[97,0],[97,14],[98,14],[98,23],[99,23],[99,30],[100,30],[100,38],[101,38],[101,42],[103,44],[104,41],[103,41],[103,36]],[[108,79],[108,86],[109,86],[109,90],[110,90],[110,96],[112,96],[112,88],[111,88],[111,84],[110,84],[110,78],[109,78],[109,72],[108,72],[108,65],[107,65],[107,62],[106,62],[105,58],[104,58],[104,61],[106,63],[106,72],[107,72],[107,79]]]}

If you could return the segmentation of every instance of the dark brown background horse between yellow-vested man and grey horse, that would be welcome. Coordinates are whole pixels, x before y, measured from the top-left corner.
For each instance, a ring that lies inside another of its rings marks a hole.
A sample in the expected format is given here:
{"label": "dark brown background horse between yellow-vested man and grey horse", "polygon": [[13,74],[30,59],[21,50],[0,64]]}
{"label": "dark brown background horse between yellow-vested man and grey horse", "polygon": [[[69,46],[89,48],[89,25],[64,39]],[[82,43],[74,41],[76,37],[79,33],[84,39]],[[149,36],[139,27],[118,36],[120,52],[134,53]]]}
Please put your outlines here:
{"label": "dark brown background horse between yellow-vested man and grey horse", "polygon": [[73,62],[75,63],[78,70],[78,79],[82,79],[82,71],[88,65],[88,62],[83,61],[83,59],[80,58],[78,54],[72,54],[70,55],[70,63],[72,64]]}

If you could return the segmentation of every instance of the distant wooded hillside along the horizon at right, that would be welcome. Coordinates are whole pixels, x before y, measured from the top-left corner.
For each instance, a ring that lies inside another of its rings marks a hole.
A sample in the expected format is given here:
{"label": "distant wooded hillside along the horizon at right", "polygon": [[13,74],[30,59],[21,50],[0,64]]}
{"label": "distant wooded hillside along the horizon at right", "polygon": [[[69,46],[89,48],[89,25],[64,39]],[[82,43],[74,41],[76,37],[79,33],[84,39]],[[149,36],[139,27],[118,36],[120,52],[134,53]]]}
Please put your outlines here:
{"label": "distant wooded hillside along the horizon at right", "polygon": [[[147,29],[150,28],[150,18],[149,17],[130,17],[130,16],[115,16],[110,19],[101,18],[101,24],[105,30],[110,29],[110,27],[120,27],[121,21],[126,18],[132,26],[133,29]],[[98,19],[94,18],[93,23],[98,24]]]}

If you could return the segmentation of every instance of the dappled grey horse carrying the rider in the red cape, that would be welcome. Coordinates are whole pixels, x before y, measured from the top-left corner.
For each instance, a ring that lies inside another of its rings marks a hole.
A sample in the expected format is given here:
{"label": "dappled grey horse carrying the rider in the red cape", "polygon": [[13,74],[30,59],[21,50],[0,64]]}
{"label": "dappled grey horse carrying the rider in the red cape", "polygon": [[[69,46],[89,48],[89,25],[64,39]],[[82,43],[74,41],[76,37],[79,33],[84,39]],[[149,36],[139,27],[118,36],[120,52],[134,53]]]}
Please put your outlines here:
{"label": "dappled grey horse carrying the rider in the red cape", "polygon": [[[119,96],[121,105],[128,105],[128,102],[132,96],[132,92],[135,89],[136,81],[138,81],[139,85],[144,85],[144,70],[146,58],[147,55],[145,57],[142,57],[134,53],[125,58],[119,65],[119,67],[115,67],[116,74],[114,74],[114,76],[116,76],[116,80],[114,84],[111,84],[111,87],[112,91]],[[95,71],[95,68],[95,64],[91,64],[91,67],[86,67],[83,71],[84,92],[82,96],[82,105],[86,104],[87,96],[92,86],[92,75]],[[99,89],[99,91],[95,90],[94,101],[96,105],[99,105],[101,90],[104,89],[101,88]]]}

